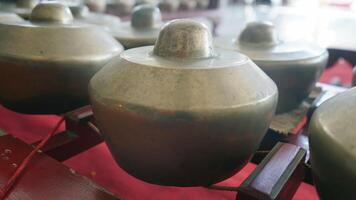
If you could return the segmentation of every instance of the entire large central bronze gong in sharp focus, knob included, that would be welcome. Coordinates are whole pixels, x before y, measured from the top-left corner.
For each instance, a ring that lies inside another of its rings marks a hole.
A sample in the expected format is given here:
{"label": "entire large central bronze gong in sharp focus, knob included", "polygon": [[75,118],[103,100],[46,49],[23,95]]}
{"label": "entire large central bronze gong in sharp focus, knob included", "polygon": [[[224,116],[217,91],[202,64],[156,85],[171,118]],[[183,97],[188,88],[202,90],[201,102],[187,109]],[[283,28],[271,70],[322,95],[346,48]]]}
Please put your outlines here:
{"label": "entire large central bronze gong in sharp focus, knob included", "polygon": [[141,180],[176,186],[211,185],[239,171],[278,96],[249,58],[214,50],[208,29],[193,20],[168,23],[155,47],[123,52],[89,91],[118,164]]}

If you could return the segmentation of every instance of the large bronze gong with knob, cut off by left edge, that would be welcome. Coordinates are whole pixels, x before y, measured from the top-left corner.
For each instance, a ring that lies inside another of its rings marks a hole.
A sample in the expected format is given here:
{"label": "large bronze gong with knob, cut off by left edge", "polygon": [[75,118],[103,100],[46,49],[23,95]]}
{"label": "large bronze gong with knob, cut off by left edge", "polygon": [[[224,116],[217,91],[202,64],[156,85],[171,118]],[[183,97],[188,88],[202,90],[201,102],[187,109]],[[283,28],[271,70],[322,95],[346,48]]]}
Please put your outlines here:
{"label": "large bronze gong with knob, cut off by left edge", "polygon": [[0,101],[23,113],[63,113],[88,103],[90,78],[122,46],[95,26],[71,22],[59,3],[31,21],[0,24]]}

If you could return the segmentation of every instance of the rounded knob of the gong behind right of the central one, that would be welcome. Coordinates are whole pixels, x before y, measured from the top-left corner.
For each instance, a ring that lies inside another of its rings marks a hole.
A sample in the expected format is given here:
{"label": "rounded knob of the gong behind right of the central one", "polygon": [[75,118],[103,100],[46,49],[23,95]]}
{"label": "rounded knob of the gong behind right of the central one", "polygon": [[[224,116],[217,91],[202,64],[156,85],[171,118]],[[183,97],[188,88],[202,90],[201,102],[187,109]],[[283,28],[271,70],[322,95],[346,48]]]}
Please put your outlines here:
{"label": "rounded knob of the gong behind right of the central one", "polygon": [[238,39],[238,43],[243,45],[274,46],[278,42],[275,27],[269,22],[251,22],[247,24]]}

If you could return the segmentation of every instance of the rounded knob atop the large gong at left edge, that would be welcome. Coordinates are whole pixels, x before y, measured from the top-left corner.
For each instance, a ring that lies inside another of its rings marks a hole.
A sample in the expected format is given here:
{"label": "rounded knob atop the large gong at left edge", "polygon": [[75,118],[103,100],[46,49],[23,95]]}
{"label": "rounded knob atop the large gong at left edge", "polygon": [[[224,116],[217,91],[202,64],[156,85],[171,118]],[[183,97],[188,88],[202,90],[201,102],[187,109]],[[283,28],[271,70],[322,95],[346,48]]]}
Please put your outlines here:
{"label": "rounded knob atop the large gong at left edge", "polygon": [[39,3],[30,16],[32,22],[69,23],[73,20],[70,9],[58,2]]}

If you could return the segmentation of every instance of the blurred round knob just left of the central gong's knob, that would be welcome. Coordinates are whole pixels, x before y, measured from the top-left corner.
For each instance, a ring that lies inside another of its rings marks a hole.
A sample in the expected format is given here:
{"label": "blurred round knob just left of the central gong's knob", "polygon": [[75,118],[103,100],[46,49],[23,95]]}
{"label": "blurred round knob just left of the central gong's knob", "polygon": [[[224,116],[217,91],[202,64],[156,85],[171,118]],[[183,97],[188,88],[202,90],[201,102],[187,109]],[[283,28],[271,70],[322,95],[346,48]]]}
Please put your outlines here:
{"label": "blurred round knob just left of the central gong's knob", "polygon": [[162,22],[161,11],[154,5],[136,6],[131,16],[131,26],[137,29],[153,28]]}

